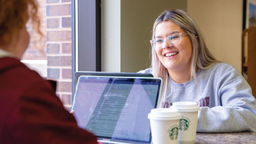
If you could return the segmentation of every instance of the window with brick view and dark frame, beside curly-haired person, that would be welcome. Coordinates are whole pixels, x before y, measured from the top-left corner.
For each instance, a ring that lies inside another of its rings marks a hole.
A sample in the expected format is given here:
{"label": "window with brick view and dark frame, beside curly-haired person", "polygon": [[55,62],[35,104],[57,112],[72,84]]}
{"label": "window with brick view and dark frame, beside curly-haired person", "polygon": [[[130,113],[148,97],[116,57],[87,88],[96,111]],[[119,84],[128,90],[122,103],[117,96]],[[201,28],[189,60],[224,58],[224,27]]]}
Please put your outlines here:
{"label": "window with brick view and dark frame, beside curly-haired person", "polygon": [[[75,71],[101,71],[100,0],[38,0],[43,50],[38,35],[30,32],[30,45],[21,62],[42,77],[57,81],[57,96],[69,111],[75,93]],[[79,20],[78,20],[79,19]]]}

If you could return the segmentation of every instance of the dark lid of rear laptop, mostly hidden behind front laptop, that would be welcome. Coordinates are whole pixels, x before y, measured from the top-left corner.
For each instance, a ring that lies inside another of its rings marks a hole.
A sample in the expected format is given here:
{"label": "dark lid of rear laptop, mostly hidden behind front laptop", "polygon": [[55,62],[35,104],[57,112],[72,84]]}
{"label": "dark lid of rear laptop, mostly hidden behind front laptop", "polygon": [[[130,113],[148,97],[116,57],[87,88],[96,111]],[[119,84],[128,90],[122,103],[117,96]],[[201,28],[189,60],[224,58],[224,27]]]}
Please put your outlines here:
{"label": "dark lid of rear laptop, mostly hidden behind front laptop", "polygon": [[109,76],[109,77],[149,77],[153,78],[152,74],[149,73],[124,73],[124,72],[93,72],[93,71],[77,71],[75,72],[75,83],[80,76]]}

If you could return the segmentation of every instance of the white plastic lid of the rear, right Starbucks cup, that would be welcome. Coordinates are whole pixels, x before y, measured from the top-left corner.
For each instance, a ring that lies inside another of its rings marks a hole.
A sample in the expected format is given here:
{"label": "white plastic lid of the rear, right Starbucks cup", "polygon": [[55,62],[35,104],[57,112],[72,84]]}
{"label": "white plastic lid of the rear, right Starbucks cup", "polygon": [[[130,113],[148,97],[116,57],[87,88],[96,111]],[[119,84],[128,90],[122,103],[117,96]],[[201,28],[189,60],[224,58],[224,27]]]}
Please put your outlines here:
{"label": "white plastic lid of the rear, right Starbucks cup", "polygon": [[170,108],[178,109],[180,112],[196,112],[200,109],[197,103],[188,101],[173,102]]}

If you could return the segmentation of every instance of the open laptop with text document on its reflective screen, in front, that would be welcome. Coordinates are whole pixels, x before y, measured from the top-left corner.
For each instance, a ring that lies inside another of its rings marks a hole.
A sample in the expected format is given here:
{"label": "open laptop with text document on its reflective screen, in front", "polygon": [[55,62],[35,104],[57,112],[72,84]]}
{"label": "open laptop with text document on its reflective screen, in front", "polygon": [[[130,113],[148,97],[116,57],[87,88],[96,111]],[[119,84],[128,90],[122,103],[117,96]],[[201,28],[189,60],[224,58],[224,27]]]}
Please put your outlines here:
{"label": "open laptop with text document on its reflective screen, in front", "polygon": [[148,113],[158,107],[159,78],[80,76],[72,110],[100,143],[150,144]]}

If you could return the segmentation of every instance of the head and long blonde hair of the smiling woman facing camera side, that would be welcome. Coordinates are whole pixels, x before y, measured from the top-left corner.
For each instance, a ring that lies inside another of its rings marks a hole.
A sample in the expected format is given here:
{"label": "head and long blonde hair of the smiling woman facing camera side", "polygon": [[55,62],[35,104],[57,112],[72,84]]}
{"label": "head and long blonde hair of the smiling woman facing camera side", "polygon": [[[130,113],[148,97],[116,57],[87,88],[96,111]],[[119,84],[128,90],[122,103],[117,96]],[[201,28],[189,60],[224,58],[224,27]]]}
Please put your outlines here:
{"label": "head and long blonde hair of the smiling woman facing camera side", "polygon": [[[172,79],[177,83],[187,82],[192,77],[197,81],[195,74],[198,67],[205,69],[210,64],[218,62],[207,49],[199,28],[186,12],[182,10],[163,12],[154,23],[152,39],[166,37],[173,32],[186,33],[180,38],[182,42],[174,46],[164,43],[161,45],[162,50],[152,49],[151,66],[155,67],[152,73],[154,76],[163,79],[162,93],[166,91],[168,74],[173,73],[170,74],[170,77],[173,77]],[[166,57],[166,54],[169,55],[169,53],[177,54],[172,57]],[[173,57],[175,57],[175,61],[172,59]],[[169,65],[167,63],[172,64]],[[170,69],[173,70],[170,71]]]}

